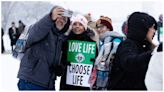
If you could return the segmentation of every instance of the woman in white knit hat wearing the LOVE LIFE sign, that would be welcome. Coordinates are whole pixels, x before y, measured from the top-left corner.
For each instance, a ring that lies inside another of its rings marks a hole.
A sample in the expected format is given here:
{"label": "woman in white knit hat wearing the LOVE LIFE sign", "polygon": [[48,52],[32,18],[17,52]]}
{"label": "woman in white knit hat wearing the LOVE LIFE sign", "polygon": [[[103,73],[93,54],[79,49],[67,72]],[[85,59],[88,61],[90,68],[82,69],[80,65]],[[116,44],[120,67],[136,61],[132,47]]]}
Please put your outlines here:
{"label": "woman in white knit hat wearing the LOVE LIFE sign", "polygon": [[65,66],[60,90],[90,90],[88,79],[96,57],[94,32],[88,30],[87,19],[78,14],[71,22],[71,32],[63,45],[62,62]]}

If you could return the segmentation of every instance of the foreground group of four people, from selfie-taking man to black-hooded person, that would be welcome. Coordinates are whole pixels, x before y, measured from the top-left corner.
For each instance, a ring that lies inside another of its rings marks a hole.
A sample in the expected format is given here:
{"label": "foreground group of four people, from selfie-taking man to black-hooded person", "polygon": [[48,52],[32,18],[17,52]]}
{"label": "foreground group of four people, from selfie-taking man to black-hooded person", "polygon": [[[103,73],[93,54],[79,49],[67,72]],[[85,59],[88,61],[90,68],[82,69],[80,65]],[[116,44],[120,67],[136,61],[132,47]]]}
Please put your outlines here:
{"label": "foreground group of four people, from selfie-taking man to black-hooded person", "polygon": [[[149,88],[144,80],[157,30],[151,15],[134,12],[129,16],[127,37],[111,59],[111,40],[124,38],[114,31],[112,20],[101,16],[92,29],[83,15],[70,18],[62,16],[64,11],[55,6],[29,28],[17,76],[19,90],[55,90],[57,76],[61,76],[60,90]],[[102,81],[100,75],[107,77]]]}

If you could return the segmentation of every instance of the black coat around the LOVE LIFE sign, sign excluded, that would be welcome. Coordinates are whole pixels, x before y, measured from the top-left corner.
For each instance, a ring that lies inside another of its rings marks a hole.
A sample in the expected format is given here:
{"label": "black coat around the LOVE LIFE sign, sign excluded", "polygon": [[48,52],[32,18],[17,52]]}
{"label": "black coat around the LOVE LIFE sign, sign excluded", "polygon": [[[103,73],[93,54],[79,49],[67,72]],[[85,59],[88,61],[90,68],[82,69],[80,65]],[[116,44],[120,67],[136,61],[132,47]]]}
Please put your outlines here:
{"label": "black coat around the LOVE LIFE sign, sign excluded", "polygon": [[[74,33],[71,33],[67,39],[68,40],[80,40],[80,41],[89,41],[89,42],[95,42],[90,38],[90,34],[88,31],[85,31],[84,33],[80,35],[76,35]],[[70,63],[67,63],[67,49],[68,49],[68,42],[65,42],[63,45],[63,56],[62,56],[62,63],[65,65],[64,74],[61,77],[60,81],[60,90],[90,90],[89,87],[80,87],[80,86],[73,86],[73,85],[67,85],[66,84],[66,74],[67,74],[67,68],[66,66]],[[96,48],[96,55],[97,55],[98,49]]]}

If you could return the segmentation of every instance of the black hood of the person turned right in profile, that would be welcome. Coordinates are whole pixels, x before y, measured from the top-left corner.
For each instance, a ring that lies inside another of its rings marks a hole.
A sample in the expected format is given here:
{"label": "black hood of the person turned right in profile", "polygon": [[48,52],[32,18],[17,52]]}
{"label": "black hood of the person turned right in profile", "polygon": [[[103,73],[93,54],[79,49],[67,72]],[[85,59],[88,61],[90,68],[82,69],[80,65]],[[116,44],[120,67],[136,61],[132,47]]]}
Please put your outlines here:
{"label": "black hood of the person turned right in profile", "polygon": [[157,29],[156,20],[152,16],[141,12],[132,13],[128,19],[127,38],[139,42],[143,41],[153,24],[155,24],[155,29]]}

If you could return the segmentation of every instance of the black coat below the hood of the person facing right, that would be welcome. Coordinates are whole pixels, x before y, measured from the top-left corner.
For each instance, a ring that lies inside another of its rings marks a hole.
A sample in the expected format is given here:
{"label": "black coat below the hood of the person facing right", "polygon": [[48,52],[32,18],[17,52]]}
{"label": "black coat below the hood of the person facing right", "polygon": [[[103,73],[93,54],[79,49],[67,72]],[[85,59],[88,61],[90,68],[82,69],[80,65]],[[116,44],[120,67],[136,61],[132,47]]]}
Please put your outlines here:
{"label": "black coat below the hood of the person facing right", "polygon": [[122,42],[112,67],[110,89],[146,90],[144,79],[151,52],[131,39]]}

